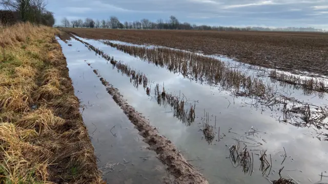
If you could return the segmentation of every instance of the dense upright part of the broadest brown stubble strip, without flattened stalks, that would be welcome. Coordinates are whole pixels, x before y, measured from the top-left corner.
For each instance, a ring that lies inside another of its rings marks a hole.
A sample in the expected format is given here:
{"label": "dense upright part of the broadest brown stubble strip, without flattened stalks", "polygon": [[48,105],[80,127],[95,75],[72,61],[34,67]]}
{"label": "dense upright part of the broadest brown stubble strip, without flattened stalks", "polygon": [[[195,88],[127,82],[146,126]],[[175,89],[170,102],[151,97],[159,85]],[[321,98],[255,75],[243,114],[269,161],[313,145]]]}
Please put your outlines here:
{"label": "dense upright part of the broadest brown stubble strip, without flattened stalks", "polygon": [[109,41],[103,42],[122,52],[149,63],[166,67],[171,72],[181,73],[183,77],[201,83],[220,84],[226,90],[246,90],[248,95],[255,96],[264,95],[265,92],[265,85],[262,80],[251,78],[237,70],[233,70],[226,63],[216,58],[166,48],[148,49],[146,47],[115,44]]}

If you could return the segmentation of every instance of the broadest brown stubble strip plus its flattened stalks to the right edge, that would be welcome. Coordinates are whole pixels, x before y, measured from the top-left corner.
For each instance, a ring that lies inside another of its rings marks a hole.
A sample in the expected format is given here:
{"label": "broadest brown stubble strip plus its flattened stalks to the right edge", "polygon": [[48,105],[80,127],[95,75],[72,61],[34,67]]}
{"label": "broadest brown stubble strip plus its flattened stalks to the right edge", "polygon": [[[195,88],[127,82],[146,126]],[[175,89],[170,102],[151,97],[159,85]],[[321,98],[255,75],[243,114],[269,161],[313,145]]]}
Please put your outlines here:
{"label": "broadest brown stubble strip plus its flattened stalks to the right edge", "polygon": [[[287,97],[274,88],[269,81],[265,83],[257,77],[251,77],[230,68],[226,63],[212,57],[196,53],[183,52],[167,48],[146,48],[102,41],[122,52],[138,57],[156,66],[166,67],[184,77],[207,82],[209,85],[219,85],[225,90],[233,90],[236,96],[254,98],[253,106],[257,103],[273,110],[283,112],[282,122],[295,126],[311,126],[328,128],[324,120],[328,117],[326,106],[316,106]],[[306,85],[306,86],[310,86]],[[298,116],[301,115],[301,116]],[[280,118],[279,118],[280,121]]]}

